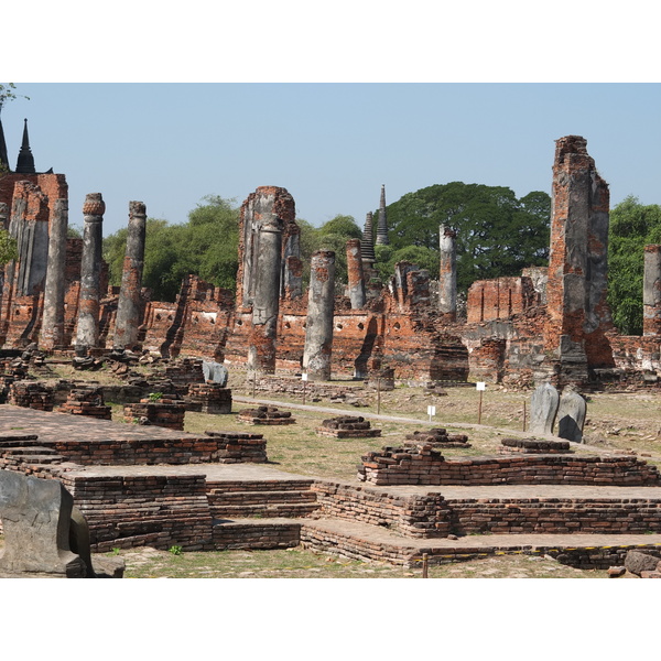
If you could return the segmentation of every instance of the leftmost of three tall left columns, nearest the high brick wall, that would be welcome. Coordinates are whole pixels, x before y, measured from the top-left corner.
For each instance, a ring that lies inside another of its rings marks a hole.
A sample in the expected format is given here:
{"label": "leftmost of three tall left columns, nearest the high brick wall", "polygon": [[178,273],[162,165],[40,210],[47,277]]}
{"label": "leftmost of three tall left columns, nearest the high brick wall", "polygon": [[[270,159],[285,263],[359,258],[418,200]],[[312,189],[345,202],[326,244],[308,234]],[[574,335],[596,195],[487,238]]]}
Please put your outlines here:
{"label": "leftmost of three tall left columns, nearest the high brick wall", "polygon": [[44,314],[40,344],[44,349],[61,347],[64,343],[64,293],[66,274],[66,235],[68,202],[56,199],[51,216],[48,264],[44,286]]}

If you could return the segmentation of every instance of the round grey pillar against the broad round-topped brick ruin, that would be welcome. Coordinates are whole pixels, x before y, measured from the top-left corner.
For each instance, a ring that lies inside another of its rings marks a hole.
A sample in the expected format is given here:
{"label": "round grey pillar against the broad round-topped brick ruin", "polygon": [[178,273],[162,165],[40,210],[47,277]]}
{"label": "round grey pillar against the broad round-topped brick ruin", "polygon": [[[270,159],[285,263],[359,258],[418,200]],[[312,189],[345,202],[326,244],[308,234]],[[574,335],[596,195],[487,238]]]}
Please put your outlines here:
{"label": "round grey pillar against the broad round-topped brick ruin", "polygon": [[280,310],[280,274],[282,263],[282,224],[275,214],[263,220],[256,241],[254,294],[252,328],[248,346],[248,372],[275,371],[275,340]]}

